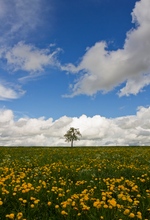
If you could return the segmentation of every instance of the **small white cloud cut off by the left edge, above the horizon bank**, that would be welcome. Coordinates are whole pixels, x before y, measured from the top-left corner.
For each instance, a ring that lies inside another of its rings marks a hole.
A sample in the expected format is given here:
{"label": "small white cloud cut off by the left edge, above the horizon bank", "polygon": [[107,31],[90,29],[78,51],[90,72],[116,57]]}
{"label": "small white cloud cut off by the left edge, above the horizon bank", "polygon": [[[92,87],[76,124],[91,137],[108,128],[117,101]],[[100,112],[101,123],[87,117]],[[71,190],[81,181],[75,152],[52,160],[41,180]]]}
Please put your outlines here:
{"label": "small white cloud cut off by the left edge, above the horizon bank", "polygon": [[11,88],[9,85],[0,83],[0,100],[17,99],[21,97],[25,91],[20,88]]}

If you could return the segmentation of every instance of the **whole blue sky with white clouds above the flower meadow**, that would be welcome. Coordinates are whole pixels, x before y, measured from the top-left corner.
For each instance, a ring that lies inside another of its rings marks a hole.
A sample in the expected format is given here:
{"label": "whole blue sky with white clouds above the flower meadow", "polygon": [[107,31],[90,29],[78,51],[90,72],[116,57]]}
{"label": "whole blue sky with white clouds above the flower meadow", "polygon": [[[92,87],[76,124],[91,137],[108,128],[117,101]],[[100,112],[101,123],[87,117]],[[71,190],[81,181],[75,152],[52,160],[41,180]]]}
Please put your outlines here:
{"label": "whole blue sky with white clouds above the flower meadow", "polygon": [[0,146],[150,145],[149,0],[0,0]]}

